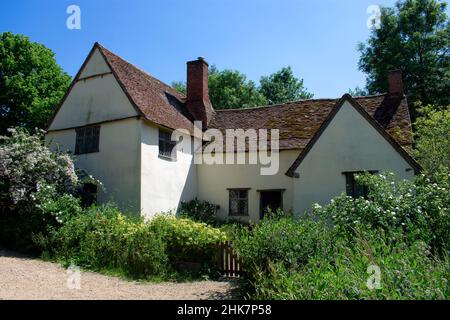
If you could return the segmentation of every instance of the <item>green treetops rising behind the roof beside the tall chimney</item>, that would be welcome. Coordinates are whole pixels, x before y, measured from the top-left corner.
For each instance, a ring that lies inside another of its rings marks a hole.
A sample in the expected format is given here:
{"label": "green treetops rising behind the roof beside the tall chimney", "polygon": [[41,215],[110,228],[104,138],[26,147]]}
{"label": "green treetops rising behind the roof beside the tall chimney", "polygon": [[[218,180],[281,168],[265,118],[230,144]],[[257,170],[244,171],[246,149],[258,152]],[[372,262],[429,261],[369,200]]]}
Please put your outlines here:
{"label": "green treetops rising behind the roof beside the tall chimney", "polygon": [[[176,81],[172,86],[186,93],[184,82]],[[294,76],[291,67],[261,77],[259,86],[237,70],[219,70],[216,66],[209,69],[209,97],[215,109],[250,108],[312,96],[304,88],[303,79]]]}

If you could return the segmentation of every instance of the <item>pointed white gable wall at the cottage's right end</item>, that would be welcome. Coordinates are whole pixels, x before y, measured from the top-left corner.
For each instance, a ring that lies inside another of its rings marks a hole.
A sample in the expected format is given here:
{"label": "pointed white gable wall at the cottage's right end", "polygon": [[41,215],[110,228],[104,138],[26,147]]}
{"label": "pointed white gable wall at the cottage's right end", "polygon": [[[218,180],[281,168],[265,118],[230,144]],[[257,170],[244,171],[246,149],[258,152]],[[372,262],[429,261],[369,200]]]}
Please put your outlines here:
{"label": "pointed white gable wall at the cottage's right end", "polygon": [[414,176],[410,169],[394,147],[345,102],[296,170],[300,178],[293,179],[294,212],[310,210],[314,203],[327,204],[345,192],[343,172],[391,171],[399,179],[410,179]]}

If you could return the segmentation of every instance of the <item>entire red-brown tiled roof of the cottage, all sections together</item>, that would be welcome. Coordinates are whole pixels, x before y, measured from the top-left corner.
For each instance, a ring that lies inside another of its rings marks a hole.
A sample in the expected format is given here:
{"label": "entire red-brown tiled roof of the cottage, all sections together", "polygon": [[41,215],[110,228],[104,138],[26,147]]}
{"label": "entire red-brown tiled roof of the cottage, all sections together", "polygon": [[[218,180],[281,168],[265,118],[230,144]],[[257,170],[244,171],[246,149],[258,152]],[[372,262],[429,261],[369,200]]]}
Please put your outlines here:
{"label": "entire red-brown tiled roof of the cottage, all sections together", "polygon": [[[91,54],[96,48],[105,58],[120,86],[141,116],[171,129],[183,128],[192,131],[193,120],[192,115],[185,107],[185,95],[133,66],[98,43],[94,45]],[[89,57],[85,63],[87,60]],[[83,67],[79,73],[82,69]],[[256,130],[280,129],[280,149],[302,151],[339,100],[311,99],[249,109],[217,110],[209,128],[222,131],[251,128]],[[389,99],[389,96],[384,94],[356,97],[355,100],[399,145],[412,144],[411,120],[406,98]]]}

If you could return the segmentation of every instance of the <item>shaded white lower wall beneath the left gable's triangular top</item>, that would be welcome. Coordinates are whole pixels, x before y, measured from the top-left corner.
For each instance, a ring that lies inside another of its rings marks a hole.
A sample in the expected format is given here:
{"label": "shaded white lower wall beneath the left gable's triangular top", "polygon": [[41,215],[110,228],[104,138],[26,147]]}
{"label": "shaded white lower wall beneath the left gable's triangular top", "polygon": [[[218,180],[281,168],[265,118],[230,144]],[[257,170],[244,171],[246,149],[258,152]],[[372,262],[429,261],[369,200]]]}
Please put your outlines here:
{"label": "shaded white lower wall beneath the left gable's triangular top", "polygon": [[[75,156],[75,166],[99,179],[105,192],[100,203],[112,200],[131,213],[140,209],[140,120],[136,118],[101,124],[99,152]],[[46,141],[52,148],[75,151],[75,129],[51,131]]]}

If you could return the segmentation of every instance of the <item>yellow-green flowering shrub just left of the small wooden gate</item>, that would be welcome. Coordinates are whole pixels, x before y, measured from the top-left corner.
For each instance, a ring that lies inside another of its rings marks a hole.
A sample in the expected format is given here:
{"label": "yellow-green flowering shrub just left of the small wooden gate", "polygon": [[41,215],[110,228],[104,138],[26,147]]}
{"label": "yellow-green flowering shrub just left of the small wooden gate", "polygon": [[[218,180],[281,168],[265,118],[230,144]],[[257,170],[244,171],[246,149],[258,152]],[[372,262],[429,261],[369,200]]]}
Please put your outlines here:
{"label": "yellow-green flowering shrub just left of the small wooden gate", "polygon": [[156,216],[149,228],[164,239],[174,266],[181,262],[214,265],[217,244],[226,239],[224,232],[206,223],[173,215]]}

